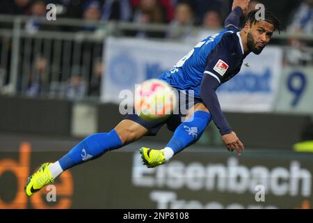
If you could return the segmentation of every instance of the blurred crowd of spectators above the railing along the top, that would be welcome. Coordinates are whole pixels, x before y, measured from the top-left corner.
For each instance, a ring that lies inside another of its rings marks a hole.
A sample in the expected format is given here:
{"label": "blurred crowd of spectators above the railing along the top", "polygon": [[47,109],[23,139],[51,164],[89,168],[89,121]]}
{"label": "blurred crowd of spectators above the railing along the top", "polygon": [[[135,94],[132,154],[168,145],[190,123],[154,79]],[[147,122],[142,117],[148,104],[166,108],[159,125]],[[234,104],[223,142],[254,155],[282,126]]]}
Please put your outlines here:
{"label": "blurred crowd of spectators above the railing along the top", "polygon": [[[0,14],[45,17],[49,3],[56,5],[58,18],[170,24],[172,29],[163,37],[182,38],[188,36],[188,29],[182,33],[178,26],[220,29],[230,13],[232,0],[2,0]],[[264,3],[273,11],[287,30],[312,33],[313,0],[252,0],[246,13],[255,9],[257,3]],[[26,29],[39,29],[39,24],[29,22]],[[84,26],[83,29],[94,31],[95,27]],[[155,33],[136,34],[153,37]]]}

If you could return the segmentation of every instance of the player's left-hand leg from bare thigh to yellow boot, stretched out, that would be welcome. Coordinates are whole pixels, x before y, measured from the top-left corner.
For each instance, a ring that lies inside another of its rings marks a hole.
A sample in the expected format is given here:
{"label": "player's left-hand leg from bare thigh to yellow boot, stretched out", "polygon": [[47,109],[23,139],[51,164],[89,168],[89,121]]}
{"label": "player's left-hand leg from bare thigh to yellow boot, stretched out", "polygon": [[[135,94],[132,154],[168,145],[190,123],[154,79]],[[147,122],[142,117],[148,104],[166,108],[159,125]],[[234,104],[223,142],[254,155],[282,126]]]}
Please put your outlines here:
{"label": "player's left-hand leg from bare thigh to yellow boot, stretched out", "polygon": [[138,123],[124,120],[111,132],[97,133],[86,137],[57,162],[42,164],[40,169],[27,180],[24,188],[26,195],[31,196],[45,185],[54,183],[54,179],[66,169],[88,160],[94,160],[107,151],[140,139],[146,133],[147,130]]}

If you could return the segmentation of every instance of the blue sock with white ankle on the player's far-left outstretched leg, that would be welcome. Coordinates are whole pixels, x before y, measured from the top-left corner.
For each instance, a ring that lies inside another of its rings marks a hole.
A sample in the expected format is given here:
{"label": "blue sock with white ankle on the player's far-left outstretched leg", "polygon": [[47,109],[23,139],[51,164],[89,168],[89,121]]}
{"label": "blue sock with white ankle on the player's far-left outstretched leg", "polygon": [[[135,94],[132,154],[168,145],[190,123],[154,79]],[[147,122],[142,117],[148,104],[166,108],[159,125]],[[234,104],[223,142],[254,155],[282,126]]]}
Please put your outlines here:
{"label": "blue sock with white ankle on the player's far-left outstretched leg", "polygon": [[64,155],[60,160],[51,164],[49,170],[51,175],[56,178],[62,171],[74,167],[88,160],[93,160],[107,151],[122,147],[120,137],[112,130],[106,133],[92,134],[83,139],[77,146]]}

